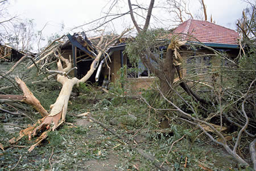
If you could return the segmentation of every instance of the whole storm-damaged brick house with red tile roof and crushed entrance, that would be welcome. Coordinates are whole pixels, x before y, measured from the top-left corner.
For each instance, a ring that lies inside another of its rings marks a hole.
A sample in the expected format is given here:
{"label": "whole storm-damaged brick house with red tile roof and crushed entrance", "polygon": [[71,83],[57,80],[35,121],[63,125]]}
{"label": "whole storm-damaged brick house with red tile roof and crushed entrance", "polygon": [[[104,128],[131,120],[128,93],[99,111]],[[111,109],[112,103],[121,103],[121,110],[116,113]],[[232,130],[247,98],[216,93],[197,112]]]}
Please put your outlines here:
{"label": "whole storm-damaged brick house with red tile roof and crushed entrance", "polygon": [[[171,35],[187,41],[180,48],[180,55],[183,59],[182,74],[184,76],[212,71],[213,69],[210,68],[212,65],[228,65],[228,61],[220,61],[220,58],[214,58],[214,53],[204,46],[191,47],[190,45],[194,42],[225,53],[228,58],[236,58],[240,52],[238,46],[239,35],[236,31],[207,21],[187,20],[175,28]],[[75,33],[73,36],[68,35],[68,39],[60,47],[61,54],[65,58],[71,58],[73,65],[78,68],[73,71],[73,75],[77,78],[82,78],[90,69],[90,64],[97,55],[97,51],[92,45],[97,44],[97,42],[89,40],[85,33]],[[118,71],[123,66],[126,65],[128,69],[134,67],[127,54],[123,53],[126,41],[127,39],[121,39],[109,47],[107,50],[108,55],[105,54],[105,57],[102,57],[102,61],[90,77],[89,82],[98,82],[99,85],[102,85],[104,78],[109,78],[110,82],[114,83],[120,78]],[[126,71],[125,73],[129,88],[150,87],[156,79],[154,75],[142,63],[138,63],[136,68],[138,72]],[[212,77],[210,76],[209,78],[212,79]]]}

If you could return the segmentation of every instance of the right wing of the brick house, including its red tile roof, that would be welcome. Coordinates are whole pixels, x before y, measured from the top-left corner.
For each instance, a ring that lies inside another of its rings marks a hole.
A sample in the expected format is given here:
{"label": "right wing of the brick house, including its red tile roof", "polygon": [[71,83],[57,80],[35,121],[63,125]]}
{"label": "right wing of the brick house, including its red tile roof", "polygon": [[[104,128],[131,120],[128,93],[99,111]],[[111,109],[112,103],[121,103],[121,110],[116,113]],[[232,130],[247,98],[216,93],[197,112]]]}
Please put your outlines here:
{"label": "right wing of the brick house, including its red tile roof", "polygon": [[[236,58],[240,52],[240,46],[238,45],[240,36],[236,31],[207,21],[189,19],[180,24],[174,30],[173,35],[187,41],[187,44],[180,48],[184,76],[187,74],[203,74],[208,71],[213,72],[214,68],[212,66],[230,65],[228,60],[216,57],[212,50],[204,46],[224,53],[229,59]],[[204,46],[191,48],[189,45],[194,42]],[[216,76],[208,75],[204,79],[212,81],[212,79],[216,80]]]}

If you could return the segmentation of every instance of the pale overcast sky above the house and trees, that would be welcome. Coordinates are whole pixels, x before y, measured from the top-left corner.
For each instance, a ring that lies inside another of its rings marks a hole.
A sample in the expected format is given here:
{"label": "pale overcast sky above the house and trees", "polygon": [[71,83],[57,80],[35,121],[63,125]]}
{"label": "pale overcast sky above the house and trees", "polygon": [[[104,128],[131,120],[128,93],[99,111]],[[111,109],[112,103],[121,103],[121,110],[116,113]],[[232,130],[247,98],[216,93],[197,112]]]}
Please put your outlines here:
{"label": "pale overcast sky above the house and trees", "polygon": [[[137,0],[142,5],[148,5],[148,0]],[[242,0],[204,0],[207,6],[208,16],[212,14],[216,24],[222,25],[227,28],[235,29],[236,21],[241,18],[242,10],[247,6]],[[254,1],[254,0],[253,0]],[[44,25],[43,35],[47,38],[54,33],[63,35],[65,33],[73,33],[81,31],[81,29],[72,30],[77,25],[88,23],[92,20],[98,19],[105,14],[110,5],[110,0],[9,0],[11,15],[19,15],[22,19],[34,19],[35,29],[41,30]],[[161,4],[160,0],[155,3]],[[196,0],[190,0],[193,12],[200,13],[199,8],[194,7]],[[133,1],[132,1],[133,3]],[[128,10],[126,0],[118,0],[118,12],[126,12]],[[105,7],[105,8],[104,8]],[[103,10],[102,10],[103,9]],[[166,11],[154,9],[153,14],[158,18],[166,18],[169,14]],[[170,26],[168,22],[158,24],[152,19],[154,27]],[[64,25],[64,29],[61,27]],[[90,25],[93,27],[94,25]],[[114,31],[121,33],[125,27],[132,27],[131,19],[129,16],[122,20],[116,20],[108,25],[107,31]],[[170,26],[171,27],[171,26]],[[167,28],[170,28],[167,27]],[[90,29],[84,27],[84,30]]]}

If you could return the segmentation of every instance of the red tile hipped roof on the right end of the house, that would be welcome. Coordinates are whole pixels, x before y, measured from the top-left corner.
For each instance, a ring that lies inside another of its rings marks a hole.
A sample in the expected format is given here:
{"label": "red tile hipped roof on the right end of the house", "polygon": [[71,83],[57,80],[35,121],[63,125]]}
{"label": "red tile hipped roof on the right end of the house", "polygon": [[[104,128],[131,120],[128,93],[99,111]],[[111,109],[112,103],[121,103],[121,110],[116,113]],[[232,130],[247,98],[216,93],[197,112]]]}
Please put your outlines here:
{"label": "red tile hipped roof on the right end of the house", "polygon": [[203,43],[237,45],[239,35],[232,29],[207,21],[189,19],[180,24],[174,33],[181,33],[183,40]]}

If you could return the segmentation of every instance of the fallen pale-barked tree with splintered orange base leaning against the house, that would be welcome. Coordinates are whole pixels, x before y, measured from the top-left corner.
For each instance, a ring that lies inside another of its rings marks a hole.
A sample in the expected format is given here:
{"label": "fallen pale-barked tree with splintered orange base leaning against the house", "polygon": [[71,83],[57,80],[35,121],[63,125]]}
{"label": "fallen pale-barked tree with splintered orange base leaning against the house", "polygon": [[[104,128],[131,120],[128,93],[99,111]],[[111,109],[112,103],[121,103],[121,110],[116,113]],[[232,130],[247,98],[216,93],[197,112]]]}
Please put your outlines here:
{"label": "fallen pale-barked tree with splintered orange base leaning against the house", "polygon": [[[42,132],[39,138],[36,139],[36,143],[28,149],[28,151],[32,151],[40,142],[42,142],[42,140],[47,138],[47,134],[49,131],[54,131],[63,122],[65,122],[65,117],[68,108],[68,100],[71,95],[73,86],[79,86],[79,83],[86,82],[86,80],[88,80],[90,76],[93,74],[94,70],[96,70],[98,62],[102,58],[102,54],[105,53],[106,49],[108,49],[110,45],[112,45],[115,41],[119,40],[128,31],[129,29],[123,31],[119,36],[113,36],[111,39],[104,40],[104,36],[101,36],[101,39],[96,46],[96,49],[98,49],[98,54],[96,58],[94,58],[92,64],[90,65],[90,70],[81,79],[68,78],[68,73],[75,68],[72,68],[71,61],[65,59],[63,56],[61,56],[59,52],[55,52],[55,56],[56,58],[58,58],[58,70],[48,72],[57,73],[57,82],[62,84],[62,88],[59,93],[59,97],[57,97],[55,103],[50,106],[51,112],[49,112],[49,114],[43,108],[43,106],[40,105],[40,102],[34,97],[34,95],[32,95],[32,93],[27,88],[26,84],[24,84],[24,82],[22,82],[22,80],[20,80],[19,78],[15,78],[16,82],[18,83],[19,87],[22,89],[24,93],[25,97],[23,101],[27,104],[32,105],[43,116],[43,118],[39,119],[38,122],[28,127],[27,129],[20,131],[19,136],[17,138],[11,139],[9,142],[13,144],[26,135],[30,140],[32,136],[36,136],[39,134],[39,132]],[[61,62],[65,63],[65,68],[63,67]]]}

